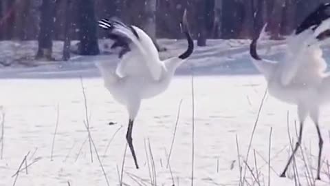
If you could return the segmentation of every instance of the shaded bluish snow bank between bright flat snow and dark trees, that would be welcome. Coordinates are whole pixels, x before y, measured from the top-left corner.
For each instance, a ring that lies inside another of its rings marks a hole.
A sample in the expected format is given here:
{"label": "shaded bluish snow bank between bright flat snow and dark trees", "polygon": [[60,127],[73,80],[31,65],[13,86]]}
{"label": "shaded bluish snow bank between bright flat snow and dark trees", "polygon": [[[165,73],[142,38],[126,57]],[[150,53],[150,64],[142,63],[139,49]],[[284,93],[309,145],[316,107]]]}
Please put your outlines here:
{"label": "shaded bluish snow bank between bright flat snow and dark trees", "polygon": [[[108,49],[111,41],[100,40],[101,54],[98,56],[72,56],[69,62],[61,60],[63,42],[56,41],[53,46],[53,56],[58,61],[33,61],[37,51],[36,41],[2,41],[0,42],[0,61],[10,63],[10,67],[1,68],[0,78],[72,78],[78,76],[99,76],[93,61],[109,61],[115,64],[117,56],[109,55]],[[72,42],[73,44],[76,41]],[[166,52],[159,56],[164,59],[181,54],[186,50],[186,40],[160,39],[160,45],[164,46]],[[263,41],[261,48],[265,48],[267,56],[277,57],[283,50],[283,41]],[[255,73],[249,59],[248,40],[209,40],[208,46],[195,48],[194,53],[187,63],[184,63],[177,74],[190,74],[190,67],[195,67],[195,74],[241,74]],[[107,47],[108,46],[108,47]]]}

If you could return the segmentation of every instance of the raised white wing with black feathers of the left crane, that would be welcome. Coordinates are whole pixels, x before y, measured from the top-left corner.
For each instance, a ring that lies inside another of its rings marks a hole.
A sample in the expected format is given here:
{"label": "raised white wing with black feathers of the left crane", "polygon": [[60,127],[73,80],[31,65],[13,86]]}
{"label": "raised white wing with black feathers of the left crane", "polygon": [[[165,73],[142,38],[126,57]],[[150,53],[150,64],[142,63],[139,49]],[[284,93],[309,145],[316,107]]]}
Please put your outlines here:
{"label": "raised white wing with black feathers of the left crane", "polygon": [[162,62],[153,41],[148,34],[133,25],[125,25],[118,19],[102,19],[98,22],[101,28],[109,31],[114,41],[111,48],[120,48],[116,72],[120,76],[146,76],[154,80],[162,75]]}

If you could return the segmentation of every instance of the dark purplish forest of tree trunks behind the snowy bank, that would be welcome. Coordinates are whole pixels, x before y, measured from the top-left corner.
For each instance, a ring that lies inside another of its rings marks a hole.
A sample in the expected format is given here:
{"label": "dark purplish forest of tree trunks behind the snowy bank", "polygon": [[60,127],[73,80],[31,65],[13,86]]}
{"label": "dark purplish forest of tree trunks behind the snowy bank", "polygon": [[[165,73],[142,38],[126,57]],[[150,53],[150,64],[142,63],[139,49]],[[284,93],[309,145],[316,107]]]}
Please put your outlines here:
{"label": "dark purplish forest of tree trunks behind the snowy bank", "polygon": [[[329,0],[328,0],[329,1]],[[199,46],[207,39],[250,39],[256,22],[268,23],[272,39],[283,39],[322,0],[1,0],[0,39],[38,41],[36,59],[52,60],[52,41],[65,41],[63,59],[70,52],[100,53],[98,39],[107,33],[97,21],[120,17],[156,38],[181,39],[184,9]],[[256,15],[256,10],[260,13]],[[70,48],[71,41],[79,41]],[[0,43],[1,45],[1,43]],[[162,46],[158,46],[162,50]]]}

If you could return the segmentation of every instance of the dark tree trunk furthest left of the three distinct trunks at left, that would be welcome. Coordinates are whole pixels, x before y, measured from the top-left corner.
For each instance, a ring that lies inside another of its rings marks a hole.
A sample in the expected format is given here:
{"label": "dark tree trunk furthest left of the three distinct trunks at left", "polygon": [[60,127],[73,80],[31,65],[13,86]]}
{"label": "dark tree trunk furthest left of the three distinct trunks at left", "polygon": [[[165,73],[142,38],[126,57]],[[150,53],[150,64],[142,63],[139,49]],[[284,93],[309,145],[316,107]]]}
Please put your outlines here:
{"label": "dark tree trunk furthest left of the three distinct trunks at left", "polygon": [[36,59],[45,58],[52,60],[52,34],[54,30],[53,6],[54,3],[49,0],[43,0],[41,4],[41,21],[38,37],[39,48]]}

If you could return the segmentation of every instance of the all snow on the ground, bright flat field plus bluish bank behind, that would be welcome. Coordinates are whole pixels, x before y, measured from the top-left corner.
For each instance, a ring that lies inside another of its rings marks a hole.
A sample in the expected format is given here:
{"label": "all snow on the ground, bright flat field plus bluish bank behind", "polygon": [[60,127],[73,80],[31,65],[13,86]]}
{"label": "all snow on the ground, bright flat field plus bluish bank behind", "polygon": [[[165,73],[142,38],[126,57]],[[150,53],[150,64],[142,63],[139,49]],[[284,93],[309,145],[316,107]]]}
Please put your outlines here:
{"label": "all snow on the ground, bright flat field plus bluish bank behind", "polygon": [[[17,41],[18,42],[18,41]],[[0,160],[0,185],[12,185],[19,165],[28,152],[27,163],[33,163],[17,178],[16,185],[107,185],[102,170],[93,153],[91,163],[88,133],[86,131],[85,102],[80,76],[83,77],[91,136],[100,154],[110,185],[119,185],[117,167],[121,169],[122,157],[126,146],[125,134],[127,114],[125,108],[115,103],[103,86],[102,79],[93,61],[109,60],[115,65],[115,56],[74,56],[72,61],[47,64],[43,61],[29,61],[34,67],[20,65],[15,61],[22,56],[33,56],[36,47],[34,41],[19,42],[16,51],[12,46],[17,42],[3,41],[0,48],[2,59],[12,63],[9,68],[0,70],[0,105],[5,113],[3,159]],[[107,41],[101,41],[102,46]],[[168,51],[162,52],[162,58],[173,56],[184,50],[185,41],[161,40]],[[177,125],[177,134],[170,156],[175,185],[190,185],[191,146],[192,146],[192,101],[191,72],[194,66],[195,76],[195,185],[239,185],[239,164],[236,149],[238,137],[240,161],[243,164],[248,151],[252,128],[256,121],[266,83],[250,63],[248,55],[249,41],[210,40],[206,48],[197,48],[177,72],[170,87],[164,94],[142,103],[140,113],[133,128],[133,143],[140,169],[135,169],[133,158],[127,150],[123,181],[128,185],[139,185],[132,178],[142,180],[141,185],[150,185],[150,176],[146,157],[145,141],[151,142],[151,149],[157,173],[157,185],[172,185],[170,170],[166,169],[166,152],[170,149],[178,105],[181,114]],[[264,41],[263,53],[272,59],[279,59],[283,53],[283,42]],[[325,48],[327,54],[328,48]],[[105,49],[102,48],[104,51]],[[17,54],[13,54],[17,52]],[[22,53],[23,52],[23,53]],[[61,42],[54,44],[54,56],[60,58]],[[329,59],[329,56],[326,55]],[[329,60],[328,60],[329,61]],[[322,110],[320,127],[325,138],[323,158],[329,160],[329,107]],[[58,114],[58,130],[55,136],[54,156],[51,161],[52,141]],[[261,185],[267,185],[270,128],[272,127],[271,185],[294,185],[292,169],[290,178],[279,178],[289,156],[289,130],[294,142],[296,107],[267,96],[261,110],[259,123],[252,141],[248,164],[254,169],[254,149],[256,160],[262,175]],[[1,121],[2,118],[0,118]],[[109,122],[116,123],[108,125]],[[1,125],[1,124],[0,124]],[[113,134],[118,130],[105,149]],[[1,128],[0,128],[1,132]],[[1,133],[0,133],[1,134]],[[311,159],[311,167],[316,167],[318,138],[313,123],[308,120],[304,129],[305,158]],[[84,141],[86,143],[83,145]],[[1,147],[1,143],[0,143]],[[81,149],[80,156],[77,154]],[[284,149],[284,150],[283,150]],[[261,154],[259,156],[258,154]],[[76,160],[77,158],[77,160]],[[300,182],[306,184],[305,165],[297,156]],[[219,165],[218,165],[219,162]],[[25,167],[25,165],[23,165]],[[327,172],[327,166],[322,166]],[[316,170],[313,168],[314,176]],[[253,182],[247,171],[247,178]],[[179,184],[177,184],[179,182]],[[245,184],[246,185],[246,184]],[[316,185],[329,185],[329,178],[322,174],[322,181]]]}

